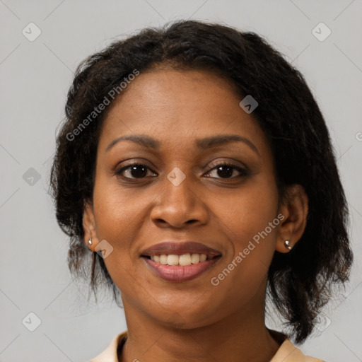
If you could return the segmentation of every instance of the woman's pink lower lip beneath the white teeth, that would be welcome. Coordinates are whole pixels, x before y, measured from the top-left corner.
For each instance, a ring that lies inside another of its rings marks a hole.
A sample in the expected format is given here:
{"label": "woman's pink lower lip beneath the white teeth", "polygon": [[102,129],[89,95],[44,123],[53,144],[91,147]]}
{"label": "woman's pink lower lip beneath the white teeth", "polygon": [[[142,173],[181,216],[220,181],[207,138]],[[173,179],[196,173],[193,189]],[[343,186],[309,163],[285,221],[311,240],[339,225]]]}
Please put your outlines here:
{"label": "woman's pink lower lip beneath the white teeth", "polygon": [[153,260],[147,259],[146,257],[143,257],[142,259],[144,259],[148,264],[148,267],[160,276],[160,278],[175,283],[182,283],[182,281],[189,281],[203,274],[206,270],[213,267],[220,257],[215,257],[214,259],[199,262],[197,264],[187,265],[185,267],[160,264],[153,262]]}

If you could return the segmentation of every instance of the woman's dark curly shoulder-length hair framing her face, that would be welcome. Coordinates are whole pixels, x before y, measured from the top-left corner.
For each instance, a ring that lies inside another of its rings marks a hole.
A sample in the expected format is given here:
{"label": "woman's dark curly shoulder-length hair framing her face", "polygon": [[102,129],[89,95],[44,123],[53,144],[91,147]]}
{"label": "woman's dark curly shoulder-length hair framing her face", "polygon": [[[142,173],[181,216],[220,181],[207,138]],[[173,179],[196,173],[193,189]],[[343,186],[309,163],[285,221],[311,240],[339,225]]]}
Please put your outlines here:
{"label": "woman's dark curly shoulder-length hair framing her face", "polygon": [[308,194],[305,231],[291,252],[274,253],[267,288],[291,337],[297,343],[305,341],[334,286],[349,279],[353,260],[349,211],[329,132],[310,89],[300,72],[255,33],[216,23],[176,21],[113,41],[81,62],[69,89],[50,176],[57,221],[70,237],[69,268],[89,278],[89,272],[81,272],[86,264],[93,291],[105,281],[116,296],[103,258],[83,241],[82,226],[84,202],[93,195],[100,129],[110,107],[83,127],[75,141],[69,135],[134,69],[149,71],[162,64],[213,71],[235,86],[240,100],[252,95],[259,103],[252,116],[274,156],[279,198],[292,184],[302,185]]}

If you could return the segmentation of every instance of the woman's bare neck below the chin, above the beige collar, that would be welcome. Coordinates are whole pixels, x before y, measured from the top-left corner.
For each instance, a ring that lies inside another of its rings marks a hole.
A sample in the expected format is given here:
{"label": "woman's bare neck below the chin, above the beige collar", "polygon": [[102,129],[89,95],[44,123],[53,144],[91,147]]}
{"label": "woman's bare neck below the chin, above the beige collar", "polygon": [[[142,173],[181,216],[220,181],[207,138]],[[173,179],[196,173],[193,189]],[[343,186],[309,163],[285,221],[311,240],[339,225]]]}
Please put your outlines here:
{"label": "woman's bare neck below the chin, above the beige collar", "polygon": [[122,362],[266,362],[280,346],[264,324],[264,303],[250,303],[218,322],[192,329],[169,327],[127,300],[123,304],[128,337],[118,356]]}

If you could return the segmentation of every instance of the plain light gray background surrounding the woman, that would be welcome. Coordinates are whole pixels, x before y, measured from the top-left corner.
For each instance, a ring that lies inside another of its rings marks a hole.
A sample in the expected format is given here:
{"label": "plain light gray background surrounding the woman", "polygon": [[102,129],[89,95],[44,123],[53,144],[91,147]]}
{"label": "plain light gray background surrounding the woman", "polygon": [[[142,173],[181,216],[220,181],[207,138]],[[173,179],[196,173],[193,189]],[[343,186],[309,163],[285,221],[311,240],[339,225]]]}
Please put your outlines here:
{"label": "plain light gray background surrounding the woman", "polygon": [[[67,269],[67,238],[47,195],[54,137],[83,58],[119,35],[180,18],[264,35],[315,94],[349,200],[356,264],[346,292],[300,348],[328,362],[362,361],[361,1],[0,0],[0,11],[0,361],[87,361],[126,329],[110,296],[88,303]],[[33,42],[22,33],[30,22],[42,32]],[[332,31],[324,41],[312,33],[320,22]]]}

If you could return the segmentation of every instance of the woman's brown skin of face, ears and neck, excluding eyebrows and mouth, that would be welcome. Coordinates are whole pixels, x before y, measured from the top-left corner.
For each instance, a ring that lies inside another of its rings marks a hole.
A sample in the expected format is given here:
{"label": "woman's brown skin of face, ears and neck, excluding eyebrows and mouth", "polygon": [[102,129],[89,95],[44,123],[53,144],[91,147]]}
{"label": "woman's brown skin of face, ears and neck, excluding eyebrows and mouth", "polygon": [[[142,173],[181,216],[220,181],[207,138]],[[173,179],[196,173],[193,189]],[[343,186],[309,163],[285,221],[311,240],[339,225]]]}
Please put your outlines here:
{"label": "woman's brown skin of face, ears and neck, excluding eyebrows and mouth", "polygon": [[[207,71],[166,67],[141,73],[110,107],[98,144],[93,201],[83,215],[84,241],[95,251],[101,240],[113,250],[107,270],[122,293],[128,338],[119,361],[269,361],[280,343],[264,324],[267,271],[275,251],[289,252],[305,230],[308,197],[290,187],[278,209],[271,150],[240,95],[225,78]],[[144,134],[153,150],[119,141]],[[196,139],[237,134],[250,140],[200,150]],[[127,163],[125,162],[127,160]],[[129,160],[147,165],[145,177],[124,170]],[[211,161],[212,164],[211,164]],[[223,176],[224,161],[250,170]],[[167,175],[180,168],[185,180]],[[133,182],[132,182],[133,181]],[[210,280],[247,247],[278,214],[284,220],[223,281]],[[222,253],[201,276],[184,283],[153,274],[141,251],[163,240],[194,240]]]}

